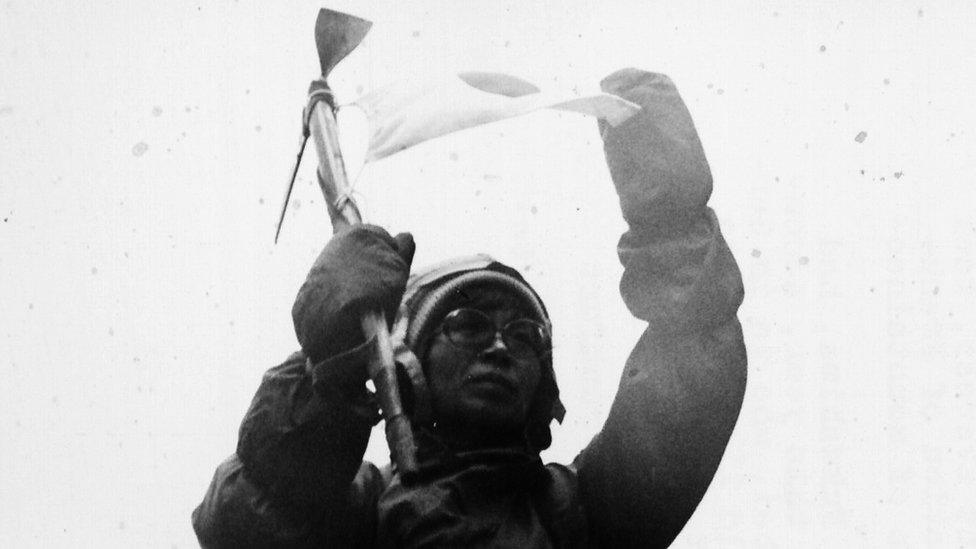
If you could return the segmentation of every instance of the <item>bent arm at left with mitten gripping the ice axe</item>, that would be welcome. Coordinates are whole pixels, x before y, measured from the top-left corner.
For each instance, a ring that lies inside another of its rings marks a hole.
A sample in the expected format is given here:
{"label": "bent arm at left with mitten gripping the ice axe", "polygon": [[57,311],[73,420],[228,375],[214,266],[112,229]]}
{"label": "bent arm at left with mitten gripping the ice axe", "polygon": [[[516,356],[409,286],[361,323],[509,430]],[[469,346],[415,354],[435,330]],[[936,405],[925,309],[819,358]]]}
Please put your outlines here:
{"label": "bent arm at left with mitten gripping the ice axe", "polygon": [[362,461],[379,415],[359,314],[396,310],[412,255],[408,235],[366,226],[323,250],[292,310],[303,352],[264,375],[236,453],[193,512],[203,547],[371,545],[383,481]]}

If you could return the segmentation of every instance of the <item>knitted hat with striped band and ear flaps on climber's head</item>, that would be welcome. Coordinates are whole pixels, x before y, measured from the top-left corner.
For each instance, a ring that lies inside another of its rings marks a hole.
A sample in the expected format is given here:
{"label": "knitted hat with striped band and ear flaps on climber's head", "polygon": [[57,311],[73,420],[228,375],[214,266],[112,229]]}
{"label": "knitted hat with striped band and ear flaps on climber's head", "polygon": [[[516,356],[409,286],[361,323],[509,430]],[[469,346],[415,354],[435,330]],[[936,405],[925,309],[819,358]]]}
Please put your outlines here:
{"label": "knitted hat with striped band and ear flaps on climber's head", "polygon": [[[413,386],[410,407],[415,423],[430,422],[430,399],[423,366],[433,331],[440,325],[457,295],[465,288],[501,289],[515,297],[530,318],[551,331],[552,324],[542,299],[515,269],[477,254],[432,265],[411,275],[393,325],[397,362]],[[552,367],[552,353],[540,357],[541,377],[535,399],[526,420],[526,441],[535,451],[549,447],[552,434],[549,424],[562,421],[566,409],[559,400],[559,388]]]}

